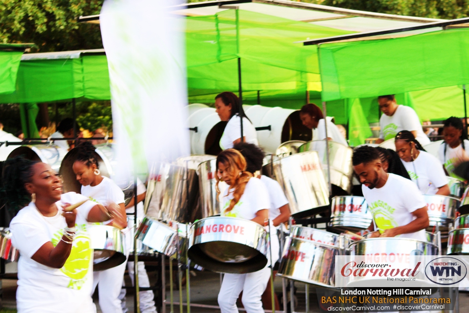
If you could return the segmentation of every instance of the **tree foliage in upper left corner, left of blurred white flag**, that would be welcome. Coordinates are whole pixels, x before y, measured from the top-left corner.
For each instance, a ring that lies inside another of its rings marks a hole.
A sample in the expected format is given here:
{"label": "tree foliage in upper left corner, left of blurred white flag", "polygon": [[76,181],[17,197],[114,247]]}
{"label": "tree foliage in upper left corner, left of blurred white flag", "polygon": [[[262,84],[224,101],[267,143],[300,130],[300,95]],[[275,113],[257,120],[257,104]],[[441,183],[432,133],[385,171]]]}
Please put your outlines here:
{"label": "tree foliage in upper left corner, left of blurred white flag", "polygon": [[0,43],[34,43],[39,52],[102,48],[98,25],[78,23],[99,14],[103,0],[0,0]]}

